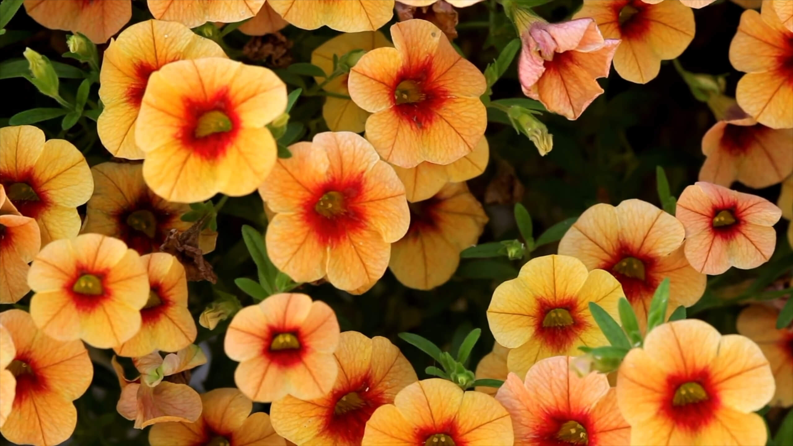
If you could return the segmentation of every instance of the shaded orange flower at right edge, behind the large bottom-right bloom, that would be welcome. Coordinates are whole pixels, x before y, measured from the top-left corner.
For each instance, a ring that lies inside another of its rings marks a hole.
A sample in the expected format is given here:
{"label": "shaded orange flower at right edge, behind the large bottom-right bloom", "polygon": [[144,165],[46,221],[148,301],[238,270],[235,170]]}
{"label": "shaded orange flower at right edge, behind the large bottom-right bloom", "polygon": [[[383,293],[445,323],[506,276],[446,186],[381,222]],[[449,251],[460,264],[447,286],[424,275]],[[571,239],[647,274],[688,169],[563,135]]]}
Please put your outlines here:
{"label": "shaded orange flower at right edge, behind the large bottom-right bloom", "polygon": [[737,330],[757,342],[768,359],[776,381],[772,406],[793,406],[793,329],[776,329],[779,310],[770,306],[753,305],[738,315]]}

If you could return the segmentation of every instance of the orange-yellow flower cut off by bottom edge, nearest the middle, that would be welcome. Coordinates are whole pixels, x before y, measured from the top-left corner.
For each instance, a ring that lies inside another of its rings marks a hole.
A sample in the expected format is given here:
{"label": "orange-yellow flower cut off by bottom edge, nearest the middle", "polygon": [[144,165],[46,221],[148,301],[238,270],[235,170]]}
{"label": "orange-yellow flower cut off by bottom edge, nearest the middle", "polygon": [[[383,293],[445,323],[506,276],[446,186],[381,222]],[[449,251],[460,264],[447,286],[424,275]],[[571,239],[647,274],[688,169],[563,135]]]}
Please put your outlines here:
{"label": "orange-yellow flower cut off by bottom edge, nearest the middle", "polygon": [[464,392],[446,379],[424,379],[377,408],[361,444],[511,446],[509,413],[492,396]]}

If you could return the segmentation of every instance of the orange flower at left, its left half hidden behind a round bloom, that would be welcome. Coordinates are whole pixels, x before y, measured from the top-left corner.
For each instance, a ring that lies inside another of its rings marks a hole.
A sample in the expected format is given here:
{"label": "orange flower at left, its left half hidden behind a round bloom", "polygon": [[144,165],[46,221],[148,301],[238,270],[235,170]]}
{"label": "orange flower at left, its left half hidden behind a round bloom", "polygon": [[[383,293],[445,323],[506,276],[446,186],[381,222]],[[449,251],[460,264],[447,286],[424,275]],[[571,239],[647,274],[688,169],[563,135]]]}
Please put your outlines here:
{"label": "orange flower at left, its left half hidden behind a round bloom", "polygon": [[114,347],[119,356],[144,356],[155,350],[176,352],[196,339],[196,323],[187,309],[185,267],[176,257],[155,252],[140,258],[148,272],[146,305],[140,309],[140,331]]}

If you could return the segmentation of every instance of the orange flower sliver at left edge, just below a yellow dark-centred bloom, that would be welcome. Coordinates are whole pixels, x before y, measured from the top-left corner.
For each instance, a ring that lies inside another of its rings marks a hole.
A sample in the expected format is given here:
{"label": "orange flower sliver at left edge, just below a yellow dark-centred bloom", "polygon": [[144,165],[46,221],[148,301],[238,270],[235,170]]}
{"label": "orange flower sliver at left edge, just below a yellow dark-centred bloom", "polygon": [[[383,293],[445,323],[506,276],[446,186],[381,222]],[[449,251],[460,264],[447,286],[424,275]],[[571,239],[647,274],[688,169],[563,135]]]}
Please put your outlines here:
{"label": "orange flower sliver at left edge, just below a yellow dark-centred bloom", "polygon": [[13,207],[0,184],[0,303],[14,303],[28,294],[28,263],[40,248],[41,233],[36,221],[23,217]]}

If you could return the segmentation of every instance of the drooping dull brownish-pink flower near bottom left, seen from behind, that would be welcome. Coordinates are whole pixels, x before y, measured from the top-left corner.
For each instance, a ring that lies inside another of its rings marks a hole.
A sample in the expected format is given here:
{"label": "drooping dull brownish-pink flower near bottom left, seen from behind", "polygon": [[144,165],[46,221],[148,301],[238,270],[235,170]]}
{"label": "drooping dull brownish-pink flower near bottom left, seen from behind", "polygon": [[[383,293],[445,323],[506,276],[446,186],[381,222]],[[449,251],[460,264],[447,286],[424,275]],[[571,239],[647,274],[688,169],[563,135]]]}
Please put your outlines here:
{"label": "drooping dull brownish-pink flower near bottom left, seen from behind", "polygon": [[135,420],[135,429],[168,421],[192,423],[201,415],[201,397],[186,384],[193,367],[206,363],[206,356],[197,345],[190,345],[163,358],[158,352],[132,363],[140,372],[136,379],[126,379],[124,368],[115,356],[111,360],[121,386],[116,409],[122,417]]}

